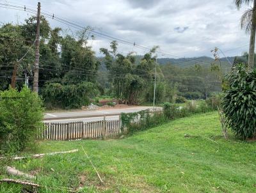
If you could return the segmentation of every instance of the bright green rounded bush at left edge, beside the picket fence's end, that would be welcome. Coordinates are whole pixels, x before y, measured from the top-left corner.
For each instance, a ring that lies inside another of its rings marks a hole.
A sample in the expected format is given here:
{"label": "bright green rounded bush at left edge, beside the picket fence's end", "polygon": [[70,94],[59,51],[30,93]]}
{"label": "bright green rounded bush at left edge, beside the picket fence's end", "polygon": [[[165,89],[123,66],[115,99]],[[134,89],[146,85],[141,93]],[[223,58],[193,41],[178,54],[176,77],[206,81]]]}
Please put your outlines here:
{"label": "bright green rounded bush at left edge, beside the picket fence's end", "polygon": [[[16,153],[35,143],[42,128],[42,100],[27,87],[0,92],[0,148]],[[32,145],[33,146],[33,145]]]}

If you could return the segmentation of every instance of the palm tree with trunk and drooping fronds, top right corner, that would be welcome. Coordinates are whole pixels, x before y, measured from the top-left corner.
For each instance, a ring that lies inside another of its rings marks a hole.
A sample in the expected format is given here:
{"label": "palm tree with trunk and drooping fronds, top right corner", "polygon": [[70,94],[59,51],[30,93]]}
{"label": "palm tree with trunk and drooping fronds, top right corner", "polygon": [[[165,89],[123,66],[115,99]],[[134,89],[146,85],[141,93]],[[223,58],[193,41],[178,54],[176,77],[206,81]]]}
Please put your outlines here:
{"label": "palm tree with trunk and drooping fronds, top right corner", "polygon": [[254,64],[254,49],[255,49],[255,33],[256,33],[256,0],[235,0],[237,9],[241,8],[242,4],[250,4],[253,2],[253,7],[246,10],[241,17],[241,28],[250,32],[250,48],[248,56],[248,68],[253,69]]}

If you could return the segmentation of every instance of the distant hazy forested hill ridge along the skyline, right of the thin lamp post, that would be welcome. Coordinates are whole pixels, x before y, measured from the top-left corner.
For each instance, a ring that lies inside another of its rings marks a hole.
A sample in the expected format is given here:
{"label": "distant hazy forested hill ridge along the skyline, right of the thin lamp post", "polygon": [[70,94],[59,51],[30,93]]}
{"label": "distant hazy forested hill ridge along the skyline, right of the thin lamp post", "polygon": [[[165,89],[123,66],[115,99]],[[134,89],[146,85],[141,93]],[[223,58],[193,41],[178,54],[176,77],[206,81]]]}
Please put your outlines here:
{"label": "distant hazy forested hill ridge along the skyline, right of the thin lamp post", "polygon": [[[227,57],[230,63],[233,63],[235,57]],[[175,66],[180,66],[182,68],[186,68],[188,66],[194,66],[195,64],[200,64],[200,65],[207,65],[211,63],[216,63],[213,58],[207,57],[207,56],[201,56],[198,58],[158,58],[157,62],[161,65],[166,65],[168,63],[171,63],[172,65]],[[226,58],[221,58],[221,63],[223,66],[229,65],[228,61]]]}

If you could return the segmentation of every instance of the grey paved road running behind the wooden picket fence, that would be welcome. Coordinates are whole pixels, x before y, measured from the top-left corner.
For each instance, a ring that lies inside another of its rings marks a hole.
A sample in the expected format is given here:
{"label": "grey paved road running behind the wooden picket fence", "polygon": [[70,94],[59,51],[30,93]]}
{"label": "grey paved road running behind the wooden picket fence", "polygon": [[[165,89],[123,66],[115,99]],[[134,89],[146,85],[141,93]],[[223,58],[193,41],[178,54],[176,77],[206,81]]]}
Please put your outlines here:
{"label": "grey paved road running behind the wooden picket fence", "polygon": [[[45,123],[67,123],[70,121],[99,121],[103,120],[106,116],[106,120],[118,120],[118,114],[122,112],[138,112],[146,109],[153,109],[153,107],[126,107],[123,109],[101,109],[99,111],[72,111],[72,112],[51,112],[45,113]],[[157,107],[157,110],[161,108]]]}

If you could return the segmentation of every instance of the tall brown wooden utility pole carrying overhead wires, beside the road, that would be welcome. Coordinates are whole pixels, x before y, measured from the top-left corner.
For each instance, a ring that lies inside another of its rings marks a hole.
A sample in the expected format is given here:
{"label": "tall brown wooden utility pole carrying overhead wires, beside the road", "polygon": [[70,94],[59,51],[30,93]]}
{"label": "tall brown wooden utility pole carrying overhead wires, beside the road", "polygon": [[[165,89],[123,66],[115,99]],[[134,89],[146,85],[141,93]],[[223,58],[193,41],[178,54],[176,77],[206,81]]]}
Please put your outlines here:
{"label": "tall brown wooden utility pole carrying overhead wires, beside the road", "polygon": [[38,68],[39,68],[39,47],[40,47],[40,2],[37,4],[37,23],[36,23],[36,54],[34,65],[33,91],[38,93]]}

